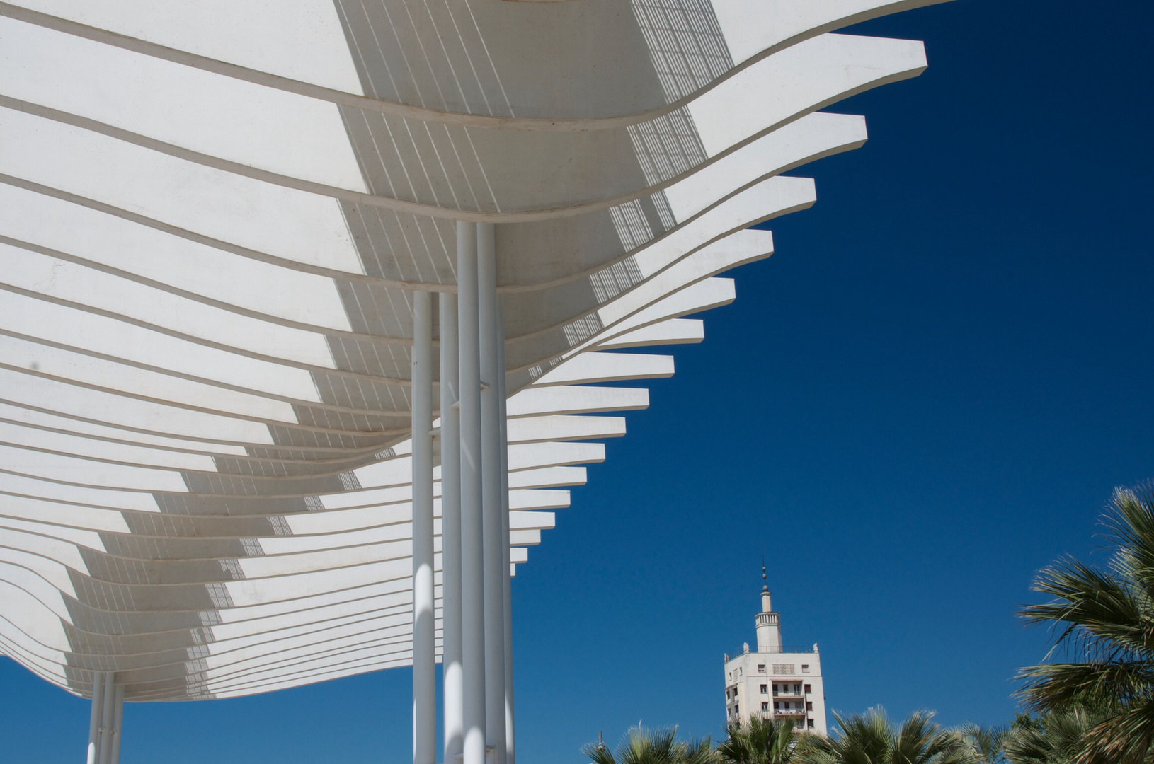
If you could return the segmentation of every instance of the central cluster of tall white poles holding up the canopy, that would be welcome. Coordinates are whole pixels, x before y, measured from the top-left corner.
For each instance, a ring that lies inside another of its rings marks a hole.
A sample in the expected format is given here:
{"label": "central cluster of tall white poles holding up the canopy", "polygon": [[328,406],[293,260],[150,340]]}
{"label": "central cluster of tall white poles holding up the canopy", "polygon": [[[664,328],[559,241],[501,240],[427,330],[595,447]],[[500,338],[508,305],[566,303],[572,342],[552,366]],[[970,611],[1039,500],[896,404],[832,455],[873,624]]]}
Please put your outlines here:
{"label": "central cluster of tall white poles holding up the canopy", "polygon": [[[503,316],[492,224],[457,224],[457,294],[440,296],[445,764],[514,761]],[[434,764],[433,311],[414,293],[413,764]]]}

